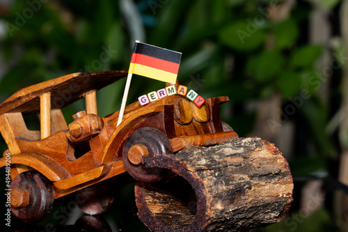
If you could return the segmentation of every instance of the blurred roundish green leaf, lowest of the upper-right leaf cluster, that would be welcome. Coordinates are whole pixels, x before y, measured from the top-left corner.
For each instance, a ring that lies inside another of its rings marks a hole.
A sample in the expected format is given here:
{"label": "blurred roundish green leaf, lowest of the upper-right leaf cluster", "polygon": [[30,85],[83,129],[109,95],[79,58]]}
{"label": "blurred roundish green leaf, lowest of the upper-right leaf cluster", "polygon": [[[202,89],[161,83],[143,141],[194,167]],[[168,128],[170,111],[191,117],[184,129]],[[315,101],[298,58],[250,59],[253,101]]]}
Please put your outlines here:
{"label": "blurred roundish green leaf, lowest of the upper-right leaf cluster", "polygon": [[300,75],[292,70],[282,72],[278,78],[278,87],[284,97],[293,97],[301,88]]}

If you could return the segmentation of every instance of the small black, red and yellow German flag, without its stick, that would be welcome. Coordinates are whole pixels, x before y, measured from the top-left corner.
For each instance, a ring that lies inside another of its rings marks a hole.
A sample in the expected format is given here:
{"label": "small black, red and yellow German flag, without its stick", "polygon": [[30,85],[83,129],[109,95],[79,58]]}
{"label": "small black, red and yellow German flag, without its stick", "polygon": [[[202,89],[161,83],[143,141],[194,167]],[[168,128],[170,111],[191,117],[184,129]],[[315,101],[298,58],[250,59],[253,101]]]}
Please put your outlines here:
{"label": "small black, red and yellow German flag, without its stick", "polygon": [[136,41],[129,73],[175,83],[182,53]]}

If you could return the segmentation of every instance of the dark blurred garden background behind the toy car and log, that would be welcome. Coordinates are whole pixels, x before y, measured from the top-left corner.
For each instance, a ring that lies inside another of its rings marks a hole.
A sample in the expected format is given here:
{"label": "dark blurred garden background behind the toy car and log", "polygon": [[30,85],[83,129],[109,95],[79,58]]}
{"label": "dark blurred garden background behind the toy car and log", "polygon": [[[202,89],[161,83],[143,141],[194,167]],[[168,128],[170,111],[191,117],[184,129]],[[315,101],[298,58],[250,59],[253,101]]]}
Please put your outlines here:
{"label": "dark blurred garden background behind the toy car and log", "polygon": [[[290,162],[290,214],[256,231],[344,231],[346,2],[0,1],[0,102],[65,74],[127,70],[134,40],[180,51],[180,83],[204,98],[227,95],[223,121],[241,137],[274,142]],[[122,80],[97,92],[100,116],[119,110],[124,87]],[[127,103],[163,87],[134,75]],[[83,109],[83,101],[63,109],[67,122]],[[0,150],[6,149],[1,138]],[[116,196],[102,215],[113,230],[148,231],[136,217],[133,185],[116,186]],[[57,201],[52,212],[68,202]],[[72,225],[81,216],[72,211],[66,220],[52,213],[33,230]]]}

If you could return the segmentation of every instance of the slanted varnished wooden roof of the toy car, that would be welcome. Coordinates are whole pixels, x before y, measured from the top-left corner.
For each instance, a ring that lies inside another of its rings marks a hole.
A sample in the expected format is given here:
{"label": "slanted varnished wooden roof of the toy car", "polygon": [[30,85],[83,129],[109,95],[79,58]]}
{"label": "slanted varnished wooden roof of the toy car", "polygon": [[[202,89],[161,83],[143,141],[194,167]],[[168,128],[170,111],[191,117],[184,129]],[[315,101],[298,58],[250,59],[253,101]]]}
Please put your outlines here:
{"label": "slanted varnished wooden roof of the toy car", "polygon": [[52,109],[63,108],[77,101],[90,90],[100,90],[106,85],[127,76],[126,71],[77,72],[31,85],[15,92],[0,104],[0,115],[8,112],[22,112],[32,115],[40,111],[40,96],[51,92]]}

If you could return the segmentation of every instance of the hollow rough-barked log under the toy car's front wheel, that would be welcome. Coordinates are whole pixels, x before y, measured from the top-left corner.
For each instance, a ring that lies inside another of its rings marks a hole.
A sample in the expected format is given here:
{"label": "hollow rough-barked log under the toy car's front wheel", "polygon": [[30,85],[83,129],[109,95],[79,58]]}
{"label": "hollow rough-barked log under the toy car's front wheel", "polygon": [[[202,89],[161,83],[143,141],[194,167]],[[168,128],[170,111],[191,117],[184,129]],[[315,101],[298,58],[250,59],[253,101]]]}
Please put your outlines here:
{"label": "hollow rough-barked log under the toy car's front wheel", "polygon": [[136,184],[138,216],[151,231],[248,231],[279,222],[292,203],[289,165],[260,138],[187,147],[143,163],[172,171]]}

